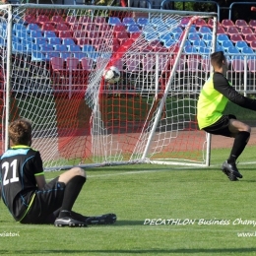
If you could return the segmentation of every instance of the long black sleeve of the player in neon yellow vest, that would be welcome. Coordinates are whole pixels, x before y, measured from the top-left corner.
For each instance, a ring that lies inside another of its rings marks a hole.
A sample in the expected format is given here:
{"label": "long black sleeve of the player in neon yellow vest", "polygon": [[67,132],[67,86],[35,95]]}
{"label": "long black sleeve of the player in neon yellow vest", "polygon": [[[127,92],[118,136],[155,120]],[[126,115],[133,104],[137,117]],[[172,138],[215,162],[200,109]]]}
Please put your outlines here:
{"label": "long black sleeve of the player in neon yellow vest", "polygon": [[227,97],[233,103],[256,111],[256,99],[242,96],[236,92],[228,83],[227,79],[222,73],[214,73],[214,88],[222,95]]}

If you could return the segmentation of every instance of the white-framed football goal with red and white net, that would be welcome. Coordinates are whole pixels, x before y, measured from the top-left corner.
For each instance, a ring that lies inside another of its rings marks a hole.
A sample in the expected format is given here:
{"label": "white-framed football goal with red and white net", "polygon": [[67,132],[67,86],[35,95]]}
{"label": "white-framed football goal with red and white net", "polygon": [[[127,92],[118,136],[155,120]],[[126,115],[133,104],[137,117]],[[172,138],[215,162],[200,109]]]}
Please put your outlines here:
{"label": "white-framed football goal with red and white net", "polygon": [[[1,151],[32,120],[45,169],[156,162],[209,165],[196,101],[217,14],[112,6],[3,5]],[[10,19],[12,18],[12,19]],[[210,27],[211,22],[211,27]],[[107,84],[116,66],[121,78]]]}

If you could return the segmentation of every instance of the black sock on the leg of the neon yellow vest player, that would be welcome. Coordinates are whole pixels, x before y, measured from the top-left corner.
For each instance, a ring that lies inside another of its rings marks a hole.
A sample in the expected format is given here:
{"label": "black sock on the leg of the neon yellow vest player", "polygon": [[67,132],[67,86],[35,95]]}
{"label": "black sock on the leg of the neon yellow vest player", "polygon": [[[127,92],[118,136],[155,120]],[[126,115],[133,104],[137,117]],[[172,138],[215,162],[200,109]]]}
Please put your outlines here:
{"label": "black sock on the leg of the neon yellow vest player", "polygon": [[227,160],[228,163],[235,162],[238,157],[243,152],[247,142],[249,141],[250,133],[249,132],[239,132],[233,142],[233,147],[230,153],[230,156]]}

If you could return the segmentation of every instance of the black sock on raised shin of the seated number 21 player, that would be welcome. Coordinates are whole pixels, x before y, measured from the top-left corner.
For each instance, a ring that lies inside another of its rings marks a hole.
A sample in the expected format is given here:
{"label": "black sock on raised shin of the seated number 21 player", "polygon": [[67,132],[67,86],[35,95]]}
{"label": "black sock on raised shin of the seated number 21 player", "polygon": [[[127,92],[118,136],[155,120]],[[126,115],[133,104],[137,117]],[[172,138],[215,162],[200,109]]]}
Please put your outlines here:
{"label": "black sock on raised shin of the seated number 21 player", "polygon": [[70,216],[71,209],[86,180],[86,177],[78,175],[73,177],[68,182],[68,184],[65,187],[64,198],[60,209],[61,211],[59,217]]}

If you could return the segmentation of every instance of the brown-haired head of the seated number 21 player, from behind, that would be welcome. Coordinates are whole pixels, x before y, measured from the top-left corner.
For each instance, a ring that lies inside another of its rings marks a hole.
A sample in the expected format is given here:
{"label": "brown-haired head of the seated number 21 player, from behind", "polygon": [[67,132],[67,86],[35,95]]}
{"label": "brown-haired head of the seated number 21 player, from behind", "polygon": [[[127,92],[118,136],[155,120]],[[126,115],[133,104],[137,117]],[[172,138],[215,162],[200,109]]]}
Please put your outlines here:
{"label": "brown-haired head of the seated number 21 player, from behind", "polygon": [[14,145],[31,145],[32,122],[26,118],[19,118],[9,124],[9,136]]}

